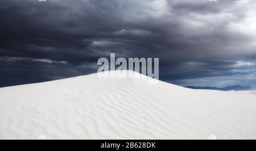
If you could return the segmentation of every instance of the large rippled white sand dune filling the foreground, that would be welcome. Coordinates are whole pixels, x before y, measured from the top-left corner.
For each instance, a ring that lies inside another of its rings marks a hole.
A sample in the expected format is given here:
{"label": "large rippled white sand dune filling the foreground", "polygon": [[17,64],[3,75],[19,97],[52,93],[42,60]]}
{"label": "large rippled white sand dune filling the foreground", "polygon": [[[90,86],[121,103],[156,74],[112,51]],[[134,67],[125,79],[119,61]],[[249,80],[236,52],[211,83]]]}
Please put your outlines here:
{"label": "large rippled white sand dune filling the foreground", "polygon": [[0,139],[256,139],[254,94],[148,79],[90,74],[1,88]]}

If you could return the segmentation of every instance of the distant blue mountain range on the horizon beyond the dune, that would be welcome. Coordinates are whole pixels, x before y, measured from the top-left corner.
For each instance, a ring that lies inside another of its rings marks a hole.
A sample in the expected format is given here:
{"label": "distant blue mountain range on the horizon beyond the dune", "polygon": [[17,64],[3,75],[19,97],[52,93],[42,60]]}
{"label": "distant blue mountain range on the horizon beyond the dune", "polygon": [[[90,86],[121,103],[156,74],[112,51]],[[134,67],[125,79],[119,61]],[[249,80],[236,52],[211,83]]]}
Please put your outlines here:
{"label": "distant blue mountain range on the horizon beyond the dune", "polygon": [[228,86],[228,87],[209,87],[209,86],[185,86],[189,89],[206,89],[206,90],[220,90],[220,91],[241,91],[241,90],[251,90],[253,89],[253,87],[251,86],[240,86],[240,85],[236,85],[236,86]]}

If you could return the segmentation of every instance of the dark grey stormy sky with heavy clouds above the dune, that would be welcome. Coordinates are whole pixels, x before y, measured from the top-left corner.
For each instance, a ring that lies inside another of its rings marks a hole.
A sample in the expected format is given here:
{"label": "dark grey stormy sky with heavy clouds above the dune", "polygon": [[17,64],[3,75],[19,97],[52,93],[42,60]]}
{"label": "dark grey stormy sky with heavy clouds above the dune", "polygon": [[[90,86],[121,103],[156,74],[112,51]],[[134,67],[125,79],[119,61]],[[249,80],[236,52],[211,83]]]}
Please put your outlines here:
{"label": "dark grey stormy sky with heavy clouds above the dune", "polygon": [[177,85],[256,86],[255,0],[1,0],[0,87],[159,57]]}

